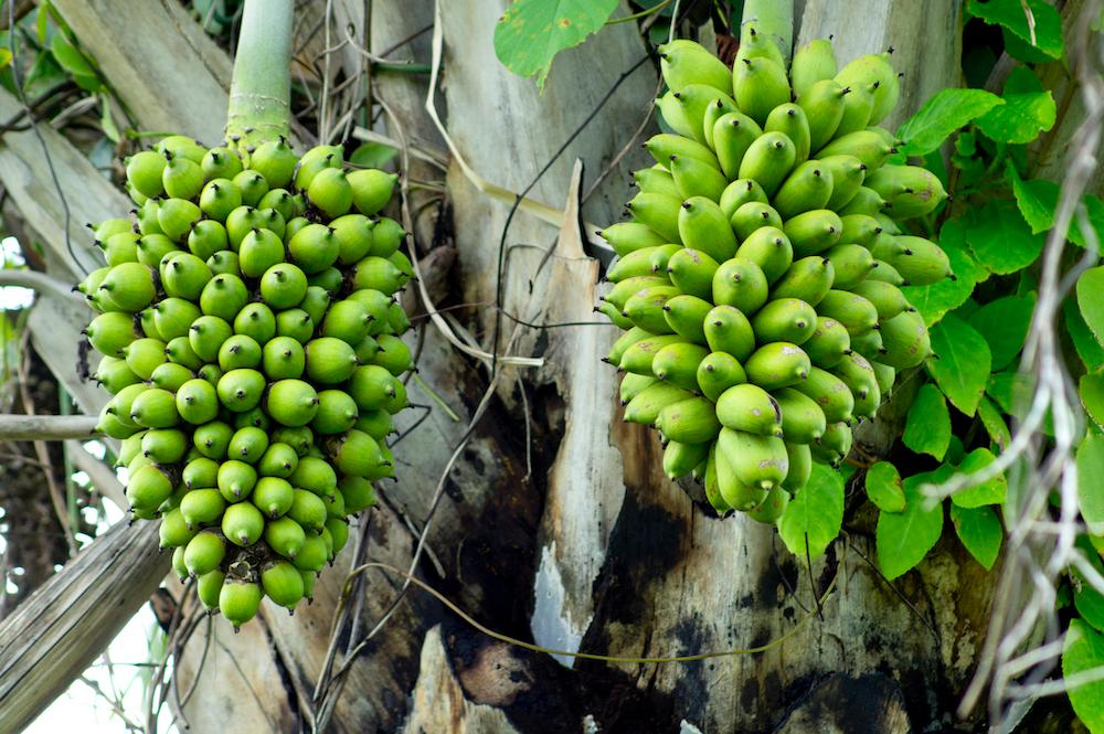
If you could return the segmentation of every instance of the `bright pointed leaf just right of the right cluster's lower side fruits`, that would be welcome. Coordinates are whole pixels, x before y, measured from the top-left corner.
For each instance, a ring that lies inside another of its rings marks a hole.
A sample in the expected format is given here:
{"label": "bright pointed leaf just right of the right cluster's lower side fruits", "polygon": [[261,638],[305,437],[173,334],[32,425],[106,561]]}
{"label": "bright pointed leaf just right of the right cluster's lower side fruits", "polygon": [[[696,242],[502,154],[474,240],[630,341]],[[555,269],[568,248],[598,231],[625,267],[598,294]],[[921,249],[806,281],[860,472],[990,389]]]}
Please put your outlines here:
{"label": "bright pointed leaf just right of the right cluster's lower side fruits", "polygon": [[943,317],[931,333],[938,359],[927,361],[927,372],[955,407],[974,415],[989,377],[989,344],[954,313]]}

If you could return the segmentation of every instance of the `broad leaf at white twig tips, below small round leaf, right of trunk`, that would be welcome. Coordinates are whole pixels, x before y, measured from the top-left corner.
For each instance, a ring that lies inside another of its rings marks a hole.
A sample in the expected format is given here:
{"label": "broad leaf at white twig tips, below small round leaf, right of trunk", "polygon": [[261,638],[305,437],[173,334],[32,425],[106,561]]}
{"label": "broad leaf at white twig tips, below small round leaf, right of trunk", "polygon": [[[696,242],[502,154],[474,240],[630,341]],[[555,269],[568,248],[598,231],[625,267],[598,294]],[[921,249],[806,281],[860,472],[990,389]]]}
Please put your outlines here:
{"label": "broad leaf at white twig tips, below small round leaf, right of trunk", "polygon": [[874,546],[878,550],[878,566],[890,581],[905,573],[924,560],[943,534],[943,504],[924,508],[925,498],[921,486],[935,480],[933,474],[909,477],[901,483],[904,490],[904,512],[878,513],[874,531]]}

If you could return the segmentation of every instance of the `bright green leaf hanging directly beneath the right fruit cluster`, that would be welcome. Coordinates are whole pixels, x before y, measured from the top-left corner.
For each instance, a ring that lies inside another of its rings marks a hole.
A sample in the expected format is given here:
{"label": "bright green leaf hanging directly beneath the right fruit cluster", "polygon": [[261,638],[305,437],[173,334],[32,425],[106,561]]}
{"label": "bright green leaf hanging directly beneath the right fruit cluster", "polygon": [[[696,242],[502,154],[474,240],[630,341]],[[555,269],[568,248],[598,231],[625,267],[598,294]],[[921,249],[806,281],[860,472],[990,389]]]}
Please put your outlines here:
{"label": "bright green leaf hanging directly beneath the right fruit cluster", "polygon": [[813,465],[808,483],[797,491],[778,520],[778,535],[789,552],[816,561],[843,525],[843,478],[822,464]]}

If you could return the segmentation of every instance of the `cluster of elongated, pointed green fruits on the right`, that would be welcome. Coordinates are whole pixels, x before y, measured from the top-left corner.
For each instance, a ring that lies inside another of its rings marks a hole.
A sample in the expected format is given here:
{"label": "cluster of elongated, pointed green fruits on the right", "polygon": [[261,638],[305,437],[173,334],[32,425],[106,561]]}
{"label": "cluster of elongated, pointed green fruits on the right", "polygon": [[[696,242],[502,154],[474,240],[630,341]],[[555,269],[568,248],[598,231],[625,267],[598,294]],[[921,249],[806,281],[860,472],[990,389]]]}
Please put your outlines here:
{"label": "cluster of elongated, pointed green fruits on the right", "polygon": [[602,311],[625,333],[625,419],[652,425],[671,478],[710,503],[775,522],[811,462],[838,465],[896,372],[931,354],[900,286],[953,277],[901,220],[945,198],[930,171],[890,163],[888,54],[837,68],[828,40],[797,51],[745,25],[729,68],[691,41],[660,46],[671,132],[645,143]]}

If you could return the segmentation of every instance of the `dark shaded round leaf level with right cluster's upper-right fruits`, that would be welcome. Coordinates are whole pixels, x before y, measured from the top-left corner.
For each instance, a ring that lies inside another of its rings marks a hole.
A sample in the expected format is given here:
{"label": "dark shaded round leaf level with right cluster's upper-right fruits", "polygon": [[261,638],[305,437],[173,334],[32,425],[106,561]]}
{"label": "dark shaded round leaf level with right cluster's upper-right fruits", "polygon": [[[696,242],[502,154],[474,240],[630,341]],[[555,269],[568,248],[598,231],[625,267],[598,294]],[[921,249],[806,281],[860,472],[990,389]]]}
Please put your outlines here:
{"label": "dark shaded round leaf level with right cluster's upper-right fruits", "polygon": [[1045,240],[1031,232],[1015,203],[996,199],[966,215],[966,242],[981,265],[1007,275],[1034,263]]}

